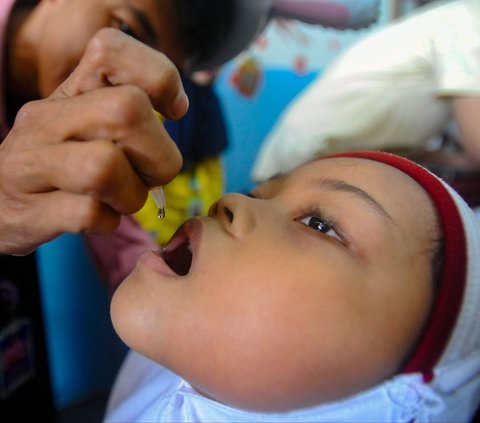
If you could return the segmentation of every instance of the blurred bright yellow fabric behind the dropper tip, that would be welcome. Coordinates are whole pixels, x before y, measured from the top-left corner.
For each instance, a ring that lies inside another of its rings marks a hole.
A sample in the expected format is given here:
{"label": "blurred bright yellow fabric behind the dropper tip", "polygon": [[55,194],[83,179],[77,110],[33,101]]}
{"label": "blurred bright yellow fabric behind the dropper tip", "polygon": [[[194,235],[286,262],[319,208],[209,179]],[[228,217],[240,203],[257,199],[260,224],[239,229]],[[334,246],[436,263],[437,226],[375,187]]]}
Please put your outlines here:
{"label": "blurred bright yellow fabric behind the dropper tip", "polygon": [[205,216],[224,192],[223,161],[220,157],[202,161],[181,172],[163,187],[165,218],[157,217],[158,208],[151,195],[135,219],[159,244],[165,244],[178,227],[192,216]]}

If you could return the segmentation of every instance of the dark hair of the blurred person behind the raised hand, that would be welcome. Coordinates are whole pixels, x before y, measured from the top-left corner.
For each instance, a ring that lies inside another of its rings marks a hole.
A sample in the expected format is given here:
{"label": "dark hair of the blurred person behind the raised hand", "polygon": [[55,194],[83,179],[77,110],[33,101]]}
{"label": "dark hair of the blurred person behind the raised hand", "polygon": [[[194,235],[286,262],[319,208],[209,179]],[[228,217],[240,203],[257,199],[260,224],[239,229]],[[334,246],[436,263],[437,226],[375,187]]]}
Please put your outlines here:
{"label": "dark hair of the blurred person behind the raised hand", "polygon": [[234,0],[173,0],[190,67],[209,59],[233,25]]}

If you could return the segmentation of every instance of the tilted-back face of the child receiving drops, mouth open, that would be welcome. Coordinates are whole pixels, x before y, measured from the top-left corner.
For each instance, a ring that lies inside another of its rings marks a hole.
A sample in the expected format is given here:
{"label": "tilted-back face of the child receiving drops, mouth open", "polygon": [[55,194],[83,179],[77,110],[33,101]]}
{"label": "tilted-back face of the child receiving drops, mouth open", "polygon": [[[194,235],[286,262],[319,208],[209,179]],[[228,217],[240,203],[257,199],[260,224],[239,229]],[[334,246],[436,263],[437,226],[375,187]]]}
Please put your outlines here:
{"label": "tilted-back face of the child receiving drops, mouth open", "polygon": [[251,409],[336,400],[397,372],[433,295],[436,216],[420,186],[336,158],[253,194],[187,223],[176,238],[193,251],[185,276],[157,254],[139,260],[113,298],[122,339],[205,395]]}

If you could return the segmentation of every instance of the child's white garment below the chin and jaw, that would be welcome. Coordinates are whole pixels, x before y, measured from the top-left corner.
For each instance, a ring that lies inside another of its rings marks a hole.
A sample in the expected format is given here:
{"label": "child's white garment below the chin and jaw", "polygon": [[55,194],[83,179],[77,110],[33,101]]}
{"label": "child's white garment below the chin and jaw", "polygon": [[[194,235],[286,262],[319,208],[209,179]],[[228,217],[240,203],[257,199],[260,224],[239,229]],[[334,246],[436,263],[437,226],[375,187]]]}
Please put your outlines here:
{"label": "child's white garment below the chin and jaw", "polygon": [[[140,371],[139,371],[140,370]],[[422,422],[444,409],[420,375],[402,375],[360,395],[287,413],[228,407],[196,392],[186,381],[131,351],[112,392],[106,422]],[[360,417],[360,419],[359,419]]]}

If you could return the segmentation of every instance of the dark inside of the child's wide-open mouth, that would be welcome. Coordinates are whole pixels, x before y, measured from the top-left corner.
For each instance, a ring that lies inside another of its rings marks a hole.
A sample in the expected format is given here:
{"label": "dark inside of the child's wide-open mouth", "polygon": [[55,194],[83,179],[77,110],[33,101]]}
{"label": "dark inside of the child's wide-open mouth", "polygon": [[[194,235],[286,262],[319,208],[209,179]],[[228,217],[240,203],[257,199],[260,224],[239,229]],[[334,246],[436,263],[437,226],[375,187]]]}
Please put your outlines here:
{"label": "dark inside of the child's wide-open mouth", "polygon": [[165,263],[179,276],[185,276],[192,266],[192,241],[186,226],[182,225],[163,247],[161,256]]}

